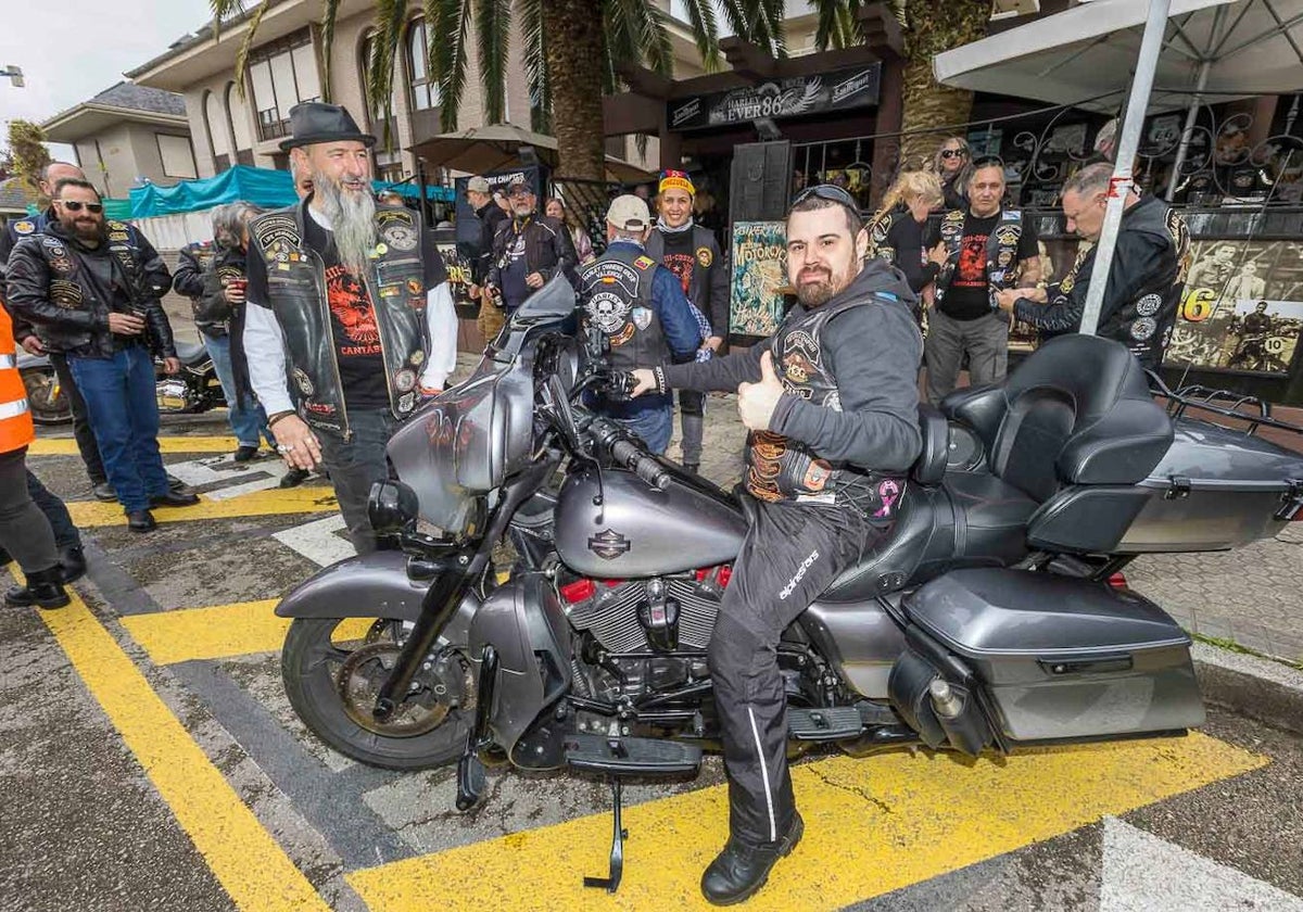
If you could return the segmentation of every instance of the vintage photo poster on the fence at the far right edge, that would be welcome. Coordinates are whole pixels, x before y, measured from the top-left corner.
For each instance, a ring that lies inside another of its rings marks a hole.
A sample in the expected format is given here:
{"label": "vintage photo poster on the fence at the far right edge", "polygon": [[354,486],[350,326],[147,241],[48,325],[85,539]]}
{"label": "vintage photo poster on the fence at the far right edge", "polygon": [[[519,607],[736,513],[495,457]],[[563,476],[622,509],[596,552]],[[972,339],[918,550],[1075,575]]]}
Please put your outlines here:
{"label": "vintage photo poster on the fence at the far right edge", "polygon": [[1303,328],[1303,244],[1196,241],[1164,362],[1285,374]]}

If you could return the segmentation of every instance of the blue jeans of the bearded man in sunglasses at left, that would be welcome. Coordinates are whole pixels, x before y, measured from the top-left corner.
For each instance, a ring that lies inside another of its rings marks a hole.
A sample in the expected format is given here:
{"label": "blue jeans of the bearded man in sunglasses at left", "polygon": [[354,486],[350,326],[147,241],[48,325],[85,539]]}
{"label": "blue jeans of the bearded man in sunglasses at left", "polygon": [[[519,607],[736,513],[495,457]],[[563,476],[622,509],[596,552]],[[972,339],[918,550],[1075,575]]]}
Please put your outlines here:
{"label": "blue jeans of the bearded man in sunglasses at left", "polygon": [[151,496],[167,494],[159,455],[159,405],[154,358],[143,345],[108,358],[68,356],[90,416],[108,483],[128,513],[149,509]]}

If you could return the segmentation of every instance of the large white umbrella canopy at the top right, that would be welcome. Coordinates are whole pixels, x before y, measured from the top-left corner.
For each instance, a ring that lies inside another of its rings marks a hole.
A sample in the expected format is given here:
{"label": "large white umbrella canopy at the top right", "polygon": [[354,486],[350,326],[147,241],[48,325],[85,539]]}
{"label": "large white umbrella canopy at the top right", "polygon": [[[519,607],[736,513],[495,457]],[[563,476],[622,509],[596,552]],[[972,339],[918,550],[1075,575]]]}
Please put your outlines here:
{"label": "large white umbrella canopy at the top right", "polygon": [[[1115,113],[1147,12],[1145,0],[1081,3],[939,53],[933,73],[947,86]],[[1303,0],[1171,0],[1149,111],[1188,107],[1204,65],[1218,100],[1303,90]]]}

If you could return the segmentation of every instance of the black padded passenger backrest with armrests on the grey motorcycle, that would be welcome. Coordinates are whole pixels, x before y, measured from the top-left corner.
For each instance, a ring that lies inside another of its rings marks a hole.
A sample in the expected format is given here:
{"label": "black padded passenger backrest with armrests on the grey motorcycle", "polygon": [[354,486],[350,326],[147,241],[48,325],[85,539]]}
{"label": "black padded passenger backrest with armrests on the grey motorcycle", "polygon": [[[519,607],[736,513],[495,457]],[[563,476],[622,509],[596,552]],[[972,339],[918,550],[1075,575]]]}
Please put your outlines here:
{"label": "black padded passenger backrest with armrests on the grey motorcycle", "polygon": [[1058,336],[1001,386],[941,404],[986,446],[992,472],[1036,500],[1062,485],[1134,485],[1171,446],[1167,414],[1121,344]]}

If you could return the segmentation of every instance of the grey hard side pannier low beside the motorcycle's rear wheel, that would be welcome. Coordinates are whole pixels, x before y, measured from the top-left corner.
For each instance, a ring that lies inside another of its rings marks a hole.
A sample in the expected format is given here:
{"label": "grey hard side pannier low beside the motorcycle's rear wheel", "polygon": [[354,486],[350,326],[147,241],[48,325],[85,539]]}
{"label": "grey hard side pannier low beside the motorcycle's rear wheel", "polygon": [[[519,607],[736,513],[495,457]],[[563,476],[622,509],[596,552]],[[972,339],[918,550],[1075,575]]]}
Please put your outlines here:
{"label": "grey hard side pannier low beside the motorcycle's rear wheel", "polygon": [[1010,741],[1124,737],[1204,722],[1190,637],[1135,593],[1053,573],[962,569],[912,593],[904,611],[911,648],[958,657]]}

